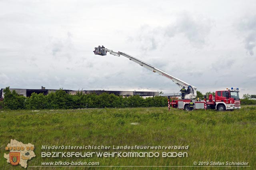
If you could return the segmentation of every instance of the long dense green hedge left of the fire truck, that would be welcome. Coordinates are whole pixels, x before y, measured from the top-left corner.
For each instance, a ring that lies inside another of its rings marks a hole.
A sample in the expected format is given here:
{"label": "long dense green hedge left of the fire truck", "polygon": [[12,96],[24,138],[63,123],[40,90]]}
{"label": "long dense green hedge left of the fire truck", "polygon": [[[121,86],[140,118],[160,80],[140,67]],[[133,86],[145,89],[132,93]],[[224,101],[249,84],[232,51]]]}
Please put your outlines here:
{"label": "long dense green hedge left of the fire truck", "polygon": [[16,91],[4,89],[4,109],[78,109],[78,108],[105,108],[105,107],[165,107],[168,105],[167,97],[140,96],[122,97],[114,94],[85,95],[78,92],[76,95],[67,94],[62,89],[55,93],[43,95],[32,93],[31,97],[19,96]]}

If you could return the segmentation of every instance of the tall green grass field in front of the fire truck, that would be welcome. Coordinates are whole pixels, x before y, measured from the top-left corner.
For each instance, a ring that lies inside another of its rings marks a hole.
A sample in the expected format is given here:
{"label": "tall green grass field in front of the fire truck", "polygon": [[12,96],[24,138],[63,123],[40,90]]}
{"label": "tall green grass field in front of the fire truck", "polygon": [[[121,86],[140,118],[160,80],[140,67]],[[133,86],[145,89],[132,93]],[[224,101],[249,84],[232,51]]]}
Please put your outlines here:
{"label": "tall green grass field in front of the fire truck", "polygon": [[[0,110],[0,168],[10,139],[35,145],[28,169],[47,161],[100,162],[100,166],[193,166],[193,162],[249,162],[250,167],[158,167],[160,169],[256,169],[256,106],[236,111],[183,111],[162,108]],[[189,146],[188,150],[46,150],[42,145]],[[185,158],[42,158],[41,152],[187,152]],[[70,167],[69,169],[158,169],[155,167]]]}

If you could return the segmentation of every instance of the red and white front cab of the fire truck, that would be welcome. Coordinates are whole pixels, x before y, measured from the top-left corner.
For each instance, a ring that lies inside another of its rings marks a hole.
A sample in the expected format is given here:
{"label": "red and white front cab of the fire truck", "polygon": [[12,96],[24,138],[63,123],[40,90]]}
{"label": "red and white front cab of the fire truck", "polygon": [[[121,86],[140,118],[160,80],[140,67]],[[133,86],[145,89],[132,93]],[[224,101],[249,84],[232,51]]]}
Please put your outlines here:
{"label": "red and white front cab of the fire truck", "polygon": [[218,111],[241,109],[238,88],[217,90],[215,92],[214,100],[216,104],[215,109]]}

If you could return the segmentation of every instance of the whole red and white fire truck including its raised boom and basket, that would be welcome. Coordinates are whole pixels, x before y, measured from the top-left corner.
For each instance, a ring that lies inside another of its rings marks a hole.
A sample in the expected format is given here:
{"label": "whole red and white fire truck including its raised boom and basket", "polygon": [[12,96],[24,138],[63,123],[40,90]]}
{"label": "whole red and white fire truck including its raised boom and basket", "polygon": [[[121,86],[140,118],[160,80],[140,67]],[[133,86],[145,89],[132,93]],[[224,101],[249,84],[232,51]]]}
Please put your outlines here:
{"label": "whole red and white fire truck including its raised boom and basket", "polygon": [[187,88],[186,93],[183,96],[178,96],[178,99],[174,99],[170,102],[168,99],[168,107],[170,110],[170,106],[172,105],[173,108],[184,109],[189,111],[189,103],[194,103],[194,109],[216,109],[218,111],[225,111],[225,110],[234,110],[234,109],[241,109],[240,106],[240,98],[239,98],[239,89],[231,87],[230,89],[226,90],[216,90],[215,96],[212,94],[209,95],[208,100],[206,100],[206,96],[201,101],[200,99],[196,98],[196,87],[186,83],[173,75],[170,75],[140,59],[132,57],[123,52],[115,52],[111,49],[107,49],[104,46],[100,48],[100,46],[94,48],[94,54],[96,55],[107,55],[109,52],[112,55],[116,55],[120,57],[121,55],[127,57],[131,61],[138,63],[140,66],[153,71],[154,73],[158,73],[170,80],[172,80],[176,85],[178,85],[181,89]]}

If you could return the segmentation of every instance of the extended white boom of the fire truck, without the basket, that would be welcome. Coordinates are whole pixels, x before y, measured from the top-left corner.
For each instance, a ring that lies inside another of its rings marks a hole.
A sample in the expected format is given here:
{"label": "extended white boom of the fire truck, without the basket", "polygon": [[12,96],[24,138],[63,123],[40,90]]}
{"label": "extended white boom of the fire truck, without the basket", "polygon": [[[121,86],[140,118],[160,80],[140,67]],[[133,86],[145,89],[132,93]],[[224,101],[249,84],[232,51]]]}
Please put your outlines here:
{"label": "extended white boom of the fire truck, without the basket", "polygon": [[128,54],[120,52],[120,51],[115,52],[115,51],[113,51],[111,49],[102,48],[102,51],[104,51],[104,50],[109,52],[112,55],[116,55],[116,56],[119,56],[119,57],[120,57],[120,55],[122,55],[124,57],[127,57],[128,59],[130,59],[131,61],[133,61],[135,63],[138,63],[142,67],[145,67],[146,69],[149,69],[150,71],[153,71],[154,73],[158,73],[158,74],[160,74],[160,75],[162,75],[162,76],[172,80],[180,88],[182,88],[182,87],[186,87],[186,88],[190,87],[191,88],[190,93],[185,95],[185,99],[194,99],[194,98],[196,98],[196,87],[194,87],[194,86],[192,86],[192,85],[190,85],[190,84],[188,84],[188,83],[186,83],[186,82],[184,82],[184,81],[182,81],[182,80],[180,80],[180,79],[178,79],[178,78],[176,78],[176,77],[174,77],[174,76],[172,76],[172,75],[170,75],[170,74],[168,74],[168,73],[166,73],[166,72],[164,72],[164,71],[162,71],[162,70],[160,70],[160,69],[158,69],[158,68],[148,64],[148,63],[145,63],[144,61],[141,61],[141,60],[139,60],[139,59],[137,59],[135,57],[132,57],[131,55],[128,55]]}

